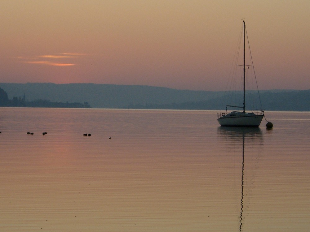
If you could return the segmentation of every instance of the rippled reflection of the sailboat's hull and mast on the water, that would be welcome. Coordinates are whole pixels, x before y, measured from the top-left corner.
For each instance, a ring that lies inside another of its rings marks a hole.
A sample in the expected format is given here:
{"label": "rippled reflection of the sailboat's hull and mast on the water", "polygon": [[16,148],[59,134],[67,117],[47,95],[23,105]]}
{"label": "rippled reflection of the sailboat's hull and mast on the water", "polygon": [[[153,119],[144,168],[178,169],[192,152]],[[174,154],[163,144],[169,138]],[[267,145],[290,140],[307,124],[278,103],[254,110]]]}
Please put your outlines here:
{"label": "rippled reflection of the sailboat's hull and mast on the water", "polygon": [[244,147],[245,140],[250,146],[263,144],[263,136],[260,128],[256,127],[218,127],[218,136],[225,140],[226,144],[242,143],[242,165],[241,165],[241,201],[240,201],[240,226],[242,231],[243,223],[243,198],[244,198]]}

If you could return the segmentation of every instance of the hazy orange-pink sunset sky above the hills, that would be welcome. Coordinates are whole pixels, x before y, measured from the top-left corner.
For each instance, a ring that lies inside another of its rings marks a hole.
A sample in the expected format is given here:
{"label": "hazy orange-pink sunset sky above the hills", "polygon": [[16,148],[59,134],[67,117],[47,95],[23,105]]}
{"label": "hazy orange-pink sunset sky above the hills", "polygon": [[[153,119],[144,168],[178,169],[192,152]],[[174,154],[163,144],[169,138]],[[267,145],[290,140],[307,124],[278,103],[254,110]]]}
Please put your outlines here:
{"label": "hazy orange-pink sunset sky above the hills", "polygon": [[0,82],[225,90],[246,22],[260,89],[310,89],[309,0],[1,0]]}

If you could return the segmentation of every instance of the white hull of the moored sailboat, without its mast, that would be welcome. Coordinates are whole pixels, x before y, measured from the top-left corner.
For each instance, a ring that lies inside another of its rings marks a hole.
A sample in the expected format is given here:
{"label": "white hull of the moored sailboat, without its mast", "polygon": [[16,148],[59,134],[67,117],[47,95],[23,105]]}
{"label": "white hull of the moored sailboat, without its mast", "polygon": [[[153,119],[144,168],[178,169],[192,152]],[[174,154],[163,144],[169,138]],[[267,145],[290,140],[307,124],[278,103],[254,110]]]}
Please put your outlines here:
{"label": "white hull of the moored sailboat, without its mast", "polygon": [[263,114],[235,117],[223,116],[218,118],[217,121],[223,127],[259,127],[263,116]]}

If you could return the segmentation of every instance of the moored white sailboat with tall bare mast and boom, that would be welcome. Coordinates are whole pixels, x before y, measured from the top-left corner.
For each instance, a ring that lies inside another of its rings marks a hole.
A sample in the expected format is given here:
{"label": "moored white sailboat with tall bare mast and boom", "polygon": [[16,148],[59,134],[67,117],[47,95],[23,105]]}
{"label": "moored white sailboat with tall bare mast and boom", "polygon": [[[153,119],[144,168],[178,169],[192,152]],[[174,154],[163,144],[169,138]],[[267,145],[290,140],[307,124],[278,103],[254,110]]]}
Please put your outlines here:
{"label": "moored white sailboat with tall bare mast and boom", "polygon": [[[243,106],[226,105],[225,113],[217,113],[217,121],[224,127],[259,127],[264,117],[264,110],[254,110],[252,112],[246,112],[245,98],[246,98],[246,24],[243,20]],[[248,65],[247,65],[248,67]],[[227,113],[227,108],[242,108],[243,111],[232,111]]]}

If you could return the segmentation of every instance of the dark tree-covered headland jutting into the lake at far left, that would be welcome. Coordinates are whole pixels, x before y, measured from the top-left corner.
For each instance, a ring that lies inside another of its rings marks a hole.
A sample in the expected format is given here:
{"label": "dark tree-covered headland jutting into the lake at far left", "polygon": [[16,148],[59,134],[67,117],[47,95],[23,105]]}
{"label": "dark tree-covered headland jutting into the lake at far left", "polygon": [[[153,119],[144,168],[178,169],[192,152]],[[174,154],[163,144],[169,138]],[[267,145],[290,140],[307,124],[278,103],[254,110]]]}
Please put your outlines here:
{"label": "dark tree-covered headland jutting into the lake at far left", "polygon": [[26,101],[26,97],[13,97],[12,100],[8,98],[7,92],[0,88],[0,106],[6,107],[49,107],[49,108],[91,108],[88,102],[84,104],[80,102],[52,102],[49,100],[37,99],[33,101]]}

